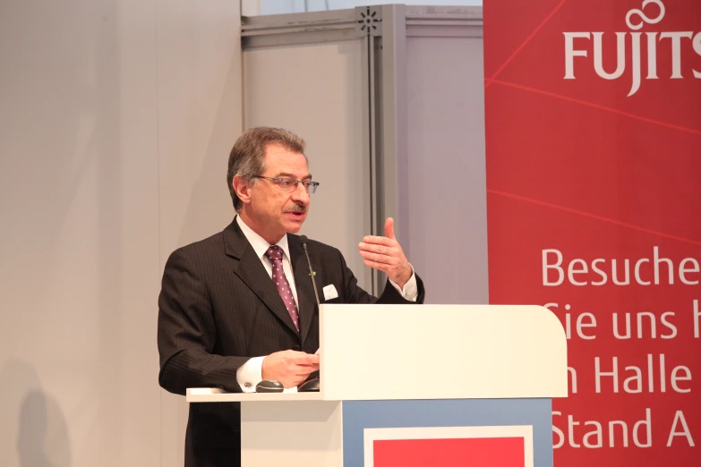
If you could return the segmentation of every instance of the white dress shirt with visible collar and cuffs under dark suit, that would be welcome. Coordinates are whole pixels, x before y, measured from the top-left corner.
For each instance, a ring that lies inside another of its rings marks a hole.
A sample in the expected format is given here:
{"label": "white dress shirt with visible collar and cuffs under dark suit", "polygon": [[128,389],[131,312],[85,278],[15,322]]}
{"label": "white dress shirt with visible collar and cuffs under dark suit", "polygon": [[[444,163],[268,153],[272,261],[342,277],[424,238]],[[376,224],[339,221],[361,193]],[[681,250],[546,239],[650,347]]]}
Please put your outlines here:
{"label": "white dress shirt with visible collar and cuffs under dark suit", "polygon": [[[256,234],[252,231],[251,227],[246,225],[240,216],[236,216],[236,222],[244,233],[246,239],[258,258],[261,259],[261,263],[265,270],[268,271],[268,276],[272,280],[272,263],[265,256],[265,252],[270,248],[269,242],[267,242],[261,235]],[[278,247],[282,250],[282,269],[285,272],[287,282],[290,284],[290,289],[292,289],[292,295],[295,298],[295,303],[297,303],[297,309],[299,309],[299,300],[297,299],[297,287],[295,285],[295,275],[292,272],[292,264],[290,263],[290,249],[287,243],[287,235],[283,235],[279,242],[276,243]],[[398,284],[394,283],[391,279],[389,284],[392,284],[395,289],[408,301],[416,301],[418,298],[418,286],[416,285],[416,276],[414,274],[414,267],[412,267],[412,275],[409,281],[404,285],[404,288],[400,288]],[[254,393],[255,386],[262,381],[262,366],[265,356],[253,357],[251,360],[246,361],[244,365],[236,370],[236,382],[241,386],[244,393]],[[296,387],[286,388],[285,392],[296,392]]]}

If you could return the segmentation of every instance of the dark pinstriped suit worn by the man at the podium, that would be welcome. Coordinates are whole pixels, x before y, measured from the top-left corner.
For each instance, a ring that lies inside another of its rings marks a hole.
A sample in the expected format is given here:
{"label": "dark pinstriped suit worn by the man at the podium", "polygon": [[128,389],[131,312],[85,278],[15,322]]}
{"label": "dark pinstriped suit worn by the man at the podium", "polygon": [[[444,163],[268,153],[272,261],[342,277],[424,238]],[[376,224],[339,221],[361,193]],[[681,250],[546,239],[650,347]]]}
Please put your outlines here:
{"label": "dark pinstriped suit worn by the man at the podium", "polygon": [[[168,258],[158,297],[160,386],[184,395],[188,387],[241,392],[236,369],[252,357],[319,348],[319,310],[309,267],[297,235],[288,234],[295,275],[300,332],[268,272],[236,221],[211,237],[175,250]],[[389,284],[379,298],[365,293],[337,249],[308,242],[317,289],[334,284],[328,303],[414,303]],[[423,303],[423,283],[416,275]],[[240,405],[191,403],[185,466],[240,465]]]}

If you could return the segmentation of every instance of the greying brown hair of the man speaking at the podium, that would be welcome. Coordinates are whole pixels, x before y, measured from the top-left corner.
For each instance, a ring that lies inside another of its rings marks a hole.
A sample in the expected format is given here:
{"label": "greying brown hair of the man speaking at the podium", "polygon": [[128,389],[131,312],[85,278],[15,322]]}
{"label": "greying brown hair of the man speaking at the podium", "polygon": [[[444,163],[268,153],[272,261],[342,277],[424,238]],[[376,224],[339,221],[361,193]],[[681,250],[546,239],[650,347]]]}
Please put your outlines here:
{"label": "greying brown hair of the man speaking at the podium", "polygon": [[[229,154],[229,165],[227,170],[227,183],[231,200],[234,202],[236,212],[241,209],[243,203],[238,198],[234,190],[234,177],[241,175],[252,184],[256,182],[253,178],[265,171],[265,149],[270,144],[278,144],[283,148],[304,154],[306,142],[302,137],[282,128],[271,128],[259,126],[246,130],[234,144]],[[304,156],[306,158],[306,156]]]}

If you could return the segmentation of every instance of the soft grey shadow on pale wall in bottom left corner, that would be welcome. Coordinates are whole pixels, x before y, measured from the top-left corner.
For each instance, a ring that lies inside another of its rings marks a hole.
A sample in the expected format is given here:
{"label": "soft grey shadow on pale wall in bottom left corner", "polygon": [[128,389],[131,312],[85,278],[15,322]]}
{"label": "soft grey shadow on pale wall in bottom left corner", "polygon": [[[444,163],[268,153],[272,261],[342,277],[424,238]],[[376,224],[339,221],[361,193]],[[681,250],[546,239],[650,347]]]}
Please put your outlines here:
{"label": "soft grey shadow on pale wall in bottom left corner", "polygon": [[[71,442],[64,413],[41,386],[26,361],[10,360],[0,369],[0,465],[68,467]],[[7,384],[9,383],[9,384]],[[16,437],[9,436],[16,433]]]}

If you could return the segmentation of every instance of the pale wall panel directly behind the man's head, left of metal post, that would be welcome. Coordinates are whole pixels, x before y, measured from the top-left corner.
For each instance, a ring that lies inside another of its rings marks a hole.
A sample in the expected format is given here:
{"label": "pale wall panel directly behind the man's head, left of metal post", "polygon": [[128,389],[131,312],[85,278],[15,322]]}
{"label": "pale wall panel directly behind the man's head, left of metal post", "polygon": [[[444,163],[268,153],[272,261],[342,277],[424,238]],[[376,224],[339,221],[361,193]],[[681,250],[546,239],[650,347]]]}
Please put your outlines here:
{"label": "pale wall panel directly behind the man's head, left of metal post", "polygon": [[337,247],[369,290],[358,242],[369,233],[364,205],[363,41],[244,50],[244,124],[281,126],[307,141],[314,180],[300,234]]}

